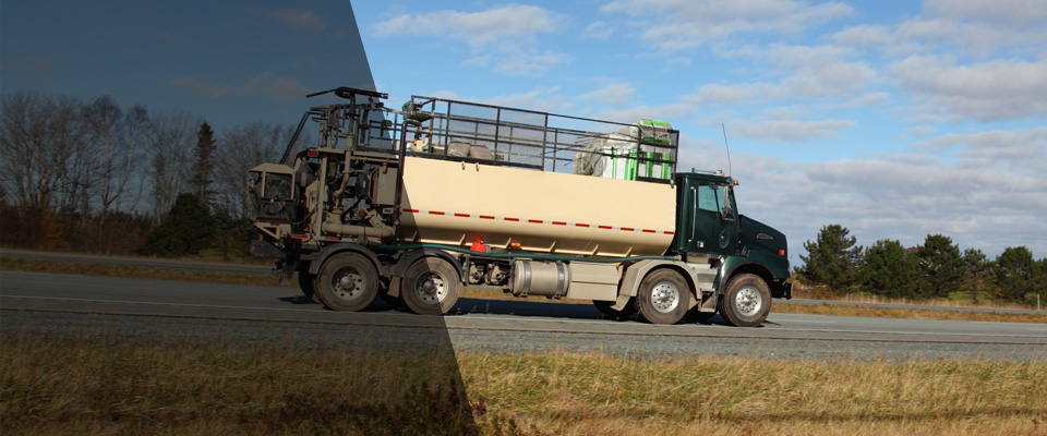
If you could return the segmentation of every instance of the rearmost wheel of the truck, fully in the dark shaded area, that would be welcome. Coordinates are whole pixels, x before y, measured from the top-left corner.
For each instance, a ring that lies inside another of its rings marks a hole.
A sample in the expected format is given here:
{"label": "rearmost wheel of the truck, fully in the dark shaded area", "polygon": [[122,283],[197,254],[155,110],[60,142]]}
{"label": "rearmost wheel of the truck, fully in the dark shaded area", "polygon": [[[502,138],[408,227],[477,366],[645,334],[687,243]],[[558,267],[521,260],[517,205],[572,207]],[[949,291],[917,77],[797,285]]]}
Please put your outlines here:
{"label": "rearmost wheel of the truck, fully in the dark shaded area", "polygon": [[358,312],[378,292],[378,270],[362,254],[338,253],[324,262],[316,275],[316,296],[327,307]]}

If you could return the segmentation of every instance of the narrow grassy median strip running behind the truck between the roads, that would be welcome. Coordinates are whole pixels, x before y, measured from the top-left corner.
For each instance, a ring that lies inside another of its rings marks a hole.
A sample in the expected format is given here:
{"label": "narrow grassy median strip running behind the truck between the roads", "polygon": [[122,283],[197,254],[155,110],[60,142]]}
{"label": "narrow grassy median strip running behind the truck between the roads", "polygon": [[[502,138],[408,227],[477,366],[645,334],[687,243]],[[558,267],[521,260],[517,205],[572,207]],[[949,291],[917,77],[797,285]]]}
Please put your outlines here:
{"label": "narrow grassy median strip running behind the truck between the roads", "polygon": [[[120,265],[98,265],[98,264],[77,264],[52,261],[16,259],[0,258],[0,269],[22,270],[35,272],[56,272],[56,274],[81,274],[89,276],[110,276],[110,277],[133,277],[158,280],[189,280],[206,281],[214,283],[231,284],[257,284],[257,286],[278,286],[276,276],[252,276],[240,274],[222,272],[203,272],[203,271],[181,271],[158,268],[145,268]],[[297,284],[286,284],[297,288]],[[464,290],[460,296],[473,299],[493,299],[493,300],[518,300],[512,295],[501,292],[482,290]],[[535,299],[542,302],[557,302],[559,300]],[[565,301],[566,303],[582,303],[576,300]],[[922,303],[923,304],[923,303]],[[955,305],[942,302],[942,305]],[[951,320],[984,320],[998,323],[1037,323],[1047,324],[1047,312],[1042,315],[1025,314],[999,314],[999,313],[973,313],[973,312],[946,312],[928,311],[919,308],[881,308],[881,307],[862,307],[862,306],[841,306],[841,305],[802,305],[793,303],[775,303],[772,306],[775,313],[813,314],[813,315],[839,315],[839,316],[866,316],[866,317],[888,317],[888,318],[917,318],[917,319],[951,319]]]}

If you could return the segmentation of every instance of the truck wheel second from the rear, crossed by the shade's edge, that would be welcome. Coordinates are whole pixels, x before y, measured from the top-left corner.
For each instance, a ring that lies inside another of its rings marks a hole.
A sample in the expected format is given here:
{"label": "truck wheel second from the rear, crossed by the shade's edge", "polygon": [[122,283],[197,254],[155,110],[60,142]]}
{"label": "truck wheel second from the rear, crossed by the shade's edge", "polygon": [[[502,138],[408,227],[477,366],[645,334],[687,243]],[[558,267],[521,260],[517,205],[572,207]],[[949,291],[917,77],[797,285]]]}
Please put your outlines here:
{"label": "truck wheel second from the rear, crossed by the shade's edge", "polygon": [[443,315],[458,302],[458,270],[440,257],[418,259],[400,280],[400,299],[411,312]]}

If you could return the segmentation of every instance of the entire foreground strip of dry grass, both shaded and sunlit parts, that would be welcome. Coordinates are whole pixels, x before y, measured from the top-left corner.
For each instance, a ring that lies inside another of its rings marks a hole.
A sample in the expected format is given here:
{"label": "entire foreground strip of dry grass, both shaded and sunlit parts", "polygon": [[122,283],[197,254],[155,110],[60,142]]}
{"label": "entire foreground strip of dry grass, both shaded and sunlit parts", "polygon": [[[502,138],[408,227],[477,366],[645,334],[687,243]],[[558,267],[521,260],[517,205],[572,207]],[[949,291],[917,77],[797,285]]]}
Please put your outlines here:
{"label": "entire foreground strip of dry grass, both shaded and sunlit parts", "polygon": [[447,359],[11,330],[0,344],[3,435],[1047,434],[1045,361]]}

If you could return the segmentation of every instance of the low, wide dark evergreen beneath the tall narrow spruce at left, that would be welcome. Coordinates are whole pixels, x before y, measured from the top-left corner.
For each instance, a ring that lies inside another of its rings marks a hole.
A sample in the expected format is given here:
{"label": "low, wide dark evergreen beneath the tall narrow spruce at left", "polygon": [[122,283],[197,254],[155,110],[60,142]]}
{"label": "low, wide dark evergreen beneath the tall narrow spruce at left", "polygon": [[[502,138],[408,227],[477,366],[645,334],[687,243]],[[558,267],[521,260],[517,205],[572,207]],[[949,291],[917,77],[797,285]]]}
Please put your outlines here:
{"label": "low, wide dark evergreen beneath the tall narrow spruce at left", "polygon": [[217,227],[217,219],[196,194],[179,194],[170,214],[149,233],[139,253],[163,257],[195,256],[213,244]]}

